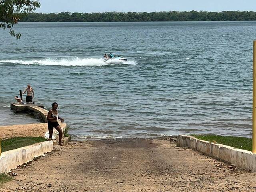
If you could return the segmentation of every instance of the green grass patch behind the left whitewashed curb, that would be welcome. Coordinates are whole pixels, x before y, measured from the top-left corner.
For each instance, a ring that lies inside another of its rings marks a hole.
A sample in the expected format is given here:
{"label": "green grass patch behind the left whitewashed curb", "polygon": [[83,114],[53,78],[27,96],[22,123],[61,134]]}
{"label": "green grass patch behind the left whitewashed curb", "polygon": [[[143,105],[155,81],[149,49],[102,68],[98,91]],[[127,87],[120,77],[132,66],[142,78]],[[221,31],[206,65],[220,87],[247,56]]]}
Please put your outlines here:
{"label": "green grass patch behind the left whitewashed curb", "polygon": [[6,140],[1,140],[1,151],[9,151],[12,149],[17,149],[20,147],[32,145],[35,143],[40,143],[46,141],[45,138],[42,137],[14,137]]}

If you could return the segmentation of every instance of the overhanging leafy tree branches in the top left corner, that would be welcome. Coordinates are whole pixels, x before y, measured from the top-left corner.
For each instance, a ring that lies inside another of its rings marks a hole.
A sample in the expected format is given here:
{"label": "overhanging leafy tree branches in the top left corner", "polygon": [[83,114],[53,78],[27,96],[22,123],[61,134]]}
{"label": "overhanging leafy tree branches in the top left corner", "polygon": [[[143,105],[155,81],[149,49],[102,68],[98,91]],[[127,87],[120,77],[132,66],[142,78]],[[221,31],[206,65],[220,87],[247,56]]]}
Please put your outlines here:
{"label": "overhanging leafy tree branches in the top left corner", "polygon": [[0,28],[10,29],[10,35],[20,39],[21,34],[15,34],[12,27],[27,13],[39,7],[38,0],[0,0]]}

